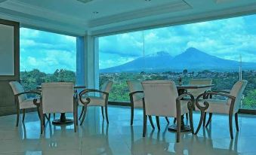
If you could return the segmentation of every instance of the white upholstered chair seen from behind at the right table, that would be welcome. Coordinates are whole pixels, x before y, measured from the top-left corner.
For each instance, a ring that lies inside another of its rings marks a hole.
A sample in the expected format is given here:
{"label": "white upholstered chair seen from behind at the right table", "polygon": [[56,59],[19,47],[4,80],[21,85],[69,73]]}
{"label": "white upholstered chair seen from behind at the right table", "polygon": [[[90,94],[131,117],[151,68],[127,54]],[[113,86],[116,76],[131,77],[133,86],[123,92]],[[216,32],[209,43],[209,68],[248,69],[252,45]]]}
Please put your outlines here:
{"label": "white upholstered chair seen from behind at the right table", "polygon": [[[177,142],[180,141],[181,115],[190,114],[190,126],[193,132],[194,98],[190,93],[178,96],[174,81],[143,81],[143,137],[146,135],[147,116],[177,118]],[[190,96],[191,100],[181,100]]]}

